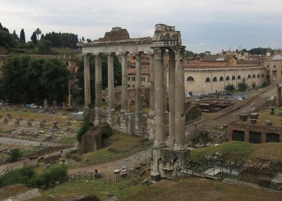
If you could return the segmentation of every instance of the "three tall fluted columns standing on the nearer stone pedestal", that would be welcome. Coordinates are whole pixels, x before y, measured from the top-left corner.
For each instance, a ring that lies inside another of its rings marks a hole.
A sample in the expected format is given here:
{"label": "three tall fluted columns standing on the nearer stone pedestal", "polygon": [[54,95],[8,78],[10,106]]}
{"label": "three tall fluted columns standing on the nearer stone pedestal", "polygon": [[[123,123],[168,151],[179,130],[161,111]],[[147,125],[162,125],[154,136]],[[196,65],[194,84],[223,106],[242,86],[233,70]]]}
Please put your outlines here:
{"label": "three tall fluted columns standing on the nearer stone pedestal", "polygon": [[155,85],[155,147],[171,147],[185,150],[185,86],[184,86],[184,47],[169,49],[168,103],[169,135],[166,139],[164,120],[166,111],[166,68],[164,67],[164,47],[154,47]]}

